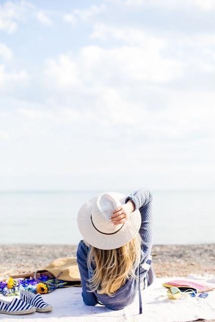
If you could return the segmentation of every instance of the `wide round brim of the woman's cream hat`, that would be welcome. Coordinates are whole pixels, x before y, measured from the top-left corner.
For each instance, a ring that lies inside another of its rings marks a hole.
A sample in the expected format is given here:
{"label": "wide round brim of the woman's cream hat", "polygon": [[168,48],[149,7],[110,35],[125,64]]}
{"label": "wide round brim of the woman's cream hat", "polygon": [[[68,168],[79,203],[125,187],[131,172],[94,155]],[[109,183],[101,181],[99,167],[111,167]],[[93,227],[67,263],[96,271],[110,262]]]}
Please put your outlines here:
{"label": "wide round brim of the woman's cream hat", "polygon": [[[114,194],[115,198],[119,199],[122,204],[125,202],[125,195],[117,192],[111,192],[111,194]],[[101,250],[117,249],[127,244],[137,234],[141,226],[139,210],[137,209],[131,213],[129,220],[124,222],[119,231],[106,235],[96,230],[91,221],[92,208],[97,198],[98,196],[93,197],[84,203],[78,212],[77,221],[82,236],[87,243]]]}

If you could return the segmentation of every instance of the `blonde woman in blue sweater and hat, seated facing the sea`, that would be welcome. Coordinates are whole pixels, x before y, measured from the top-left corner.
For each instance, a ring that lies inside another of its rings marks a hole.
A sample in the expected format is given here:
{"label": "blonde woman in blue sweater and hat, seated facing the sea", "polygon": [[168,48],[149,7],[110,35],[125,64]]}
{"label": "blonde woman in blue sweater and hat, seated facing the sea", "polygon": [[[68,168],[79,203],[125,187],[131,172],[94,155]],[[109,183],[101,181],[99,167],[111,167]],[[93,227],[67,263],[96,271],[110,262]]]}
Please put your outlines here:
{"label": "blonde woman in blue sweater and hat, seated facing the sea", "polygon": [[141,188],[129,196],[103,193],[78,213],[84,237],[77,262],[86,305],[98,303],[119,310],[131,304],[140,289],[154,281],[152,251],[152,193]]}

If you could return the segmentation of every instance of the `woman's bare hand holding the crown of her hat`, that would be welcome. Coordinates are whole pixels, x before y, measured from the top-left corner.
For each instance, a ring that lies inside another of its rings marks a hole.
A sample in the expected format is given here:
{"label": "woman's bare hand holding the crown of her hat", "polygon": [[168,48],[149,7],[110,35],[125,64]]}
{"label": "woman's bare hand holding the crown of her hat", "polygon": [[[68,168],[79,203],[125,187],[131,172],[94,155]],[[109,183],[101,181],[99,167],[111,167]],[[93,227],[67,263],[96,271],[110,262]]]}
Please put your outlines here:
{"label": "woman's bare hand holding the crown of her hat", "polygon": [[127,203],[122,204],[113,211],[113,214],[110,216],[110,221],[114,225],[122,224],[129,219],[130,213],[134,210],[134,204],[131,200],[128,200]]}

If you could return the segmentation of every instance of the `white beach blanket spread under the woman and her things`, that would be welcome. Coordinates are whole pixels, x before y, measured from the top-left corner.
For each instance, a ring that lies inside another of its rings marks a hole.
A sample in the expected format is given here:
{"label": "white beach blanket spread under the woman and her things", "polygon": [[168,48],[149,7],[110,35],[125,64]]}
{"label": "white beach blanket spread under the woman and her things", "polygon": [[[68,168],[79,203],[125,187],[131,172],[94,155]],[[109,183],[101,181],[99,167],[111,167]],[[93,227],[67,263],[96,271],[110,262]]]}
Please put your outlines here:
{"label": "white beach blanket spread under the woman and her things", "polygon": [[[167,289],[162,287],[162,283],[180,277],[157,278],[147,289],[142,290],[143,313],[139,313],[138,293],[135,301],[126,308],[118,311],[110,310],[100,304],[87,306],[81,296],[81,287],[57,289],[52,293],[43,295],[47,303],[53,305],[53,311],[49,313],[32,313],[21,316],[0,314],[3,322],[8,320],[32,321],[36,322],[185,322],[198,318],[215,319],[215,290],[208,292],[208,297],[192,298],[187,300],[169,300],[166,295]],[[215,276],[205,275],[204,278],[189,274],[188,279],[198,279],[198,281],[211,283],[215,286]],[[1,298],[6,299],[3,295]],[[9,297],[7,299],[12,299]]]}

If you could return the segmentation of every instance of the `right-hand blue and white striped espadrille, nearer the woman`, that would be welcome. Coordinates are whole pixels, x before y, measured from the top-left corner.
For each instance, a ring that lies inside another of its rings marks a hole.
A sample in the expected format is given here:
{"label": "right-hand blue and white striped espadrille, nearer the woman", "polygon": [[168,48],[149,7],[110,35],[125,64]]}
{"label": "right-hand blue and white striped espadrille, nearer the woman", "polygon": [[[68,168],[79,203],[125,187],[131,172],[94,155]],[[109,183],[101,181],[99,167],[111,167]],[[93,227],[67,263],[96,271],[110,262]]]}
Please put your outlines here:
{"label": "right-hand blue and white striped espadrille, nearer the woman", "polygon": [[52,310],[52,306],[43,300],[40,293],[34,294],[26,290],[21,290],[20,298],[26,303],[33,305],[37,312],[49,312]]}

